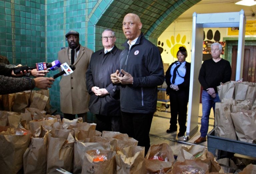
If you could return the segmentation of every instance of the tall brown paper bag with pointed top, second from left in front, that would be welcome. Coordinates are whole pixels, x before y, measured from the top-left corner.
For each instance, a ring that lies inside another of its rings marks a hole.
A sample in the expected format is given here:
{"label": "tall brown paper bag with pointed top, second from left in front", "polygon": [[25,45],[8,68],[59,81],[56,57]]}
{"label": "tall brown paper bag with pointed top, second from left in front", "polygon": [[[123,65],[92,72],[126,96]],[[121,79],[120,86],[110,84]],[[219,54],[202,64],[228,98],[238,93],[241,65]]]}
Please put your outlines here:
{"label": "tall brown paper bag with pointed top, second from left in front", "polygon": [[24,173],[46,173],[47,133],[48,130],[41,126],[31,137],[31,143],[23,155]]}

